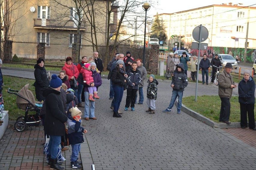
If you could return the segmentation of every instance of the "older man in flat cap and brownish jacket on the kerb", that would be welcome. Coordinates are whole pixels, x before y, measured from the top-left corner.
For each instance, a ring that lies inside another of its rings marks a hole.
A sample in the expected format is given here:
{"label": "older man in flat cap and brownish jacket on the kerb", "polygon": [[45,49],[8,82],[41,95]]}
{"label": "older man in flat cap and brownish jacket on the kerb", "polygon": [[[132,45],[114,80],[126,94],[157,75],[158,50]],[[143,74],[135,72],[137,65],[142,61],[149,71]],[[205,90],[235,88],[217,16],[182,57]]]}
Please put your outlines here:
{"label": "older man in flat cap and brownish jacket on the kerb", "polygon": [[236,84],[233,81],[233,77],[230,74],[232,71],[232,64],[227,63],[225,70],[219,74],[219,96],[221,98],[221,111],[220,122],[230,124],[230,98],[232,96],[233,88],[236,88]]}

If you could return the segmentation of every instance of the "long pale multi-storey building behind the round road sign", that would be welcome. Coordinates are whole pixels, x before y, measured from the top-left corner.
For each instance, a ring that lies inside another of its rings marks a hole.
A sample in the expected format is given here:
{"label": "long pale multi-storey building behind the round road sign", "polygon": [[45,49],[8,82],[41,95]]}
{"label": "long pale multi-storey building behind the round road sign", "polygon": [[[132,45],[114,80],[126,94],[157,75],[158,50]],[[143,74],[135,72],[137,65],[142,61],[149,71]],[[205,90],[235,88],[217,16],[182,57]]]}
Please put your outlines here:
{"label": "long pale multi-storey building behind the round road sign", "polygon": [[165,24],[167,45],[172,48],[173,43],[178,42],[181,36],[184,46],[191,46],[194,41],[192,31],[202,24],[209,31],[204,42],[208,46],[244,48],[249,19],[248,48],[256,48],[256,7],[238,5],[213,4],[177,13],[159,14]]}

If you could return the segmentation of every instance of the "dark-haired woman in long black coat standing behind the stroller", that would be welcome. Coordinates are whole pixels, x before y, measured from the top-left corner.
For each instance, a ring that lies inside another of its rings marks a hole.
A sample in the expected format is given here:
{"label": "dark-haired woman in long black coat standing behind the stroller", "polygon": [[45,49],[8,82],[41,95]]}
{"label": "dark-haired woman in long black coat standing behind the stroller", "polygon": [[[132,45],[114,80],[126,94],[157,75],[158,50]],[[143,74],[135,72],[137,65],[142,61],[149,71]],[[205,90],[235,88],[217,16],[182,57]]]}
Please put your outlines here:
{"label": "dark-haired woman in long black coat standing behind the stroller", "polygon": [[46,70],[44,68],[44,59],[38,58],[34,66],[34,75],[35,75],[35,96],[38,101],[44,101],[44,96],[42,95],[41,89],[43,87],[49,86],[49,80],[47,78]]}

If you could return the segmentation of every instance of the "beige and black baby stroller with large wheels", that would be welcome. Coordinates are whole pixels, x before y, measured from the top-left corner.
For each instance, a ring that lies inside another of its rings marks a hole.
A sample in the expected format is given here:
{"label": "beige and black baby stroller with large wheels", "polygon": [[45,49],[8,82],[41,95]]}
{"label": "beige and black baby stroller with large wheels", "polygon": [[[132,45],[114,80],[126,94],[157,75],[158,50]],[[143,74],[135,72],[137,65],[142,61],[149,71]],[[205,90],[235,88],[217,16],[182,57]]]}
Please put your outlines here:
{"label": "beige and black baby stroller with large wheels", "polygon": [[23,132],[27,126],[39,126],[41,122],[39,114],[42,103],[35,101],[35,97],[28,86],[29,84],[26,84],[20,91],[8,88],[8,93],[17,95],[16,104],[18,108],[26,111],[25,116],[18,117],[14,123],[14,129],[18,132]]}

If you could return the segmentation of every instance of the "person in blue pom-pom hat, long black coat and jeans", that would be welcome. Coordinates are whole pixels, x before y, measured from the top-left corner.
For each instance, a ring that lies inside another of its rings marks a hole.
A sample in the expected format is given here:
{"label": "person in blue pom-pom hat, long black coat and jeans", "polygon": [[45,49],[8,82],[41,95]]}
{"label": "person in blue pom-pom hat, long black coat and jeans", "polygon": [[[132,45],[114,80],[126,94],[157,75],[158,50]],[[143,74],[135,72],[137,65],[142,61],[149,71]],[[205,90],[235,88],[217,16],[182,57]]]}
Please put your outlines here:
{"label": "person in blue pom-pom hat, long black coat and jeans", "polygon": [[62,81],[57,77],[56,74],[52,75],[50,81],[50,87],[44,87],[42,89],[43,96],[45,97],[45,124],[44,129],[45,133],[50,135],[50,141],[48,144],[49,152],[49,163],[51,169],[65,169],[60,167],[57,163],[57,154],[59,144],[61,142],[61,136],[65,135],[65,125],[68,117],[65,114],[62,97],[60,95],[60,87]]}

